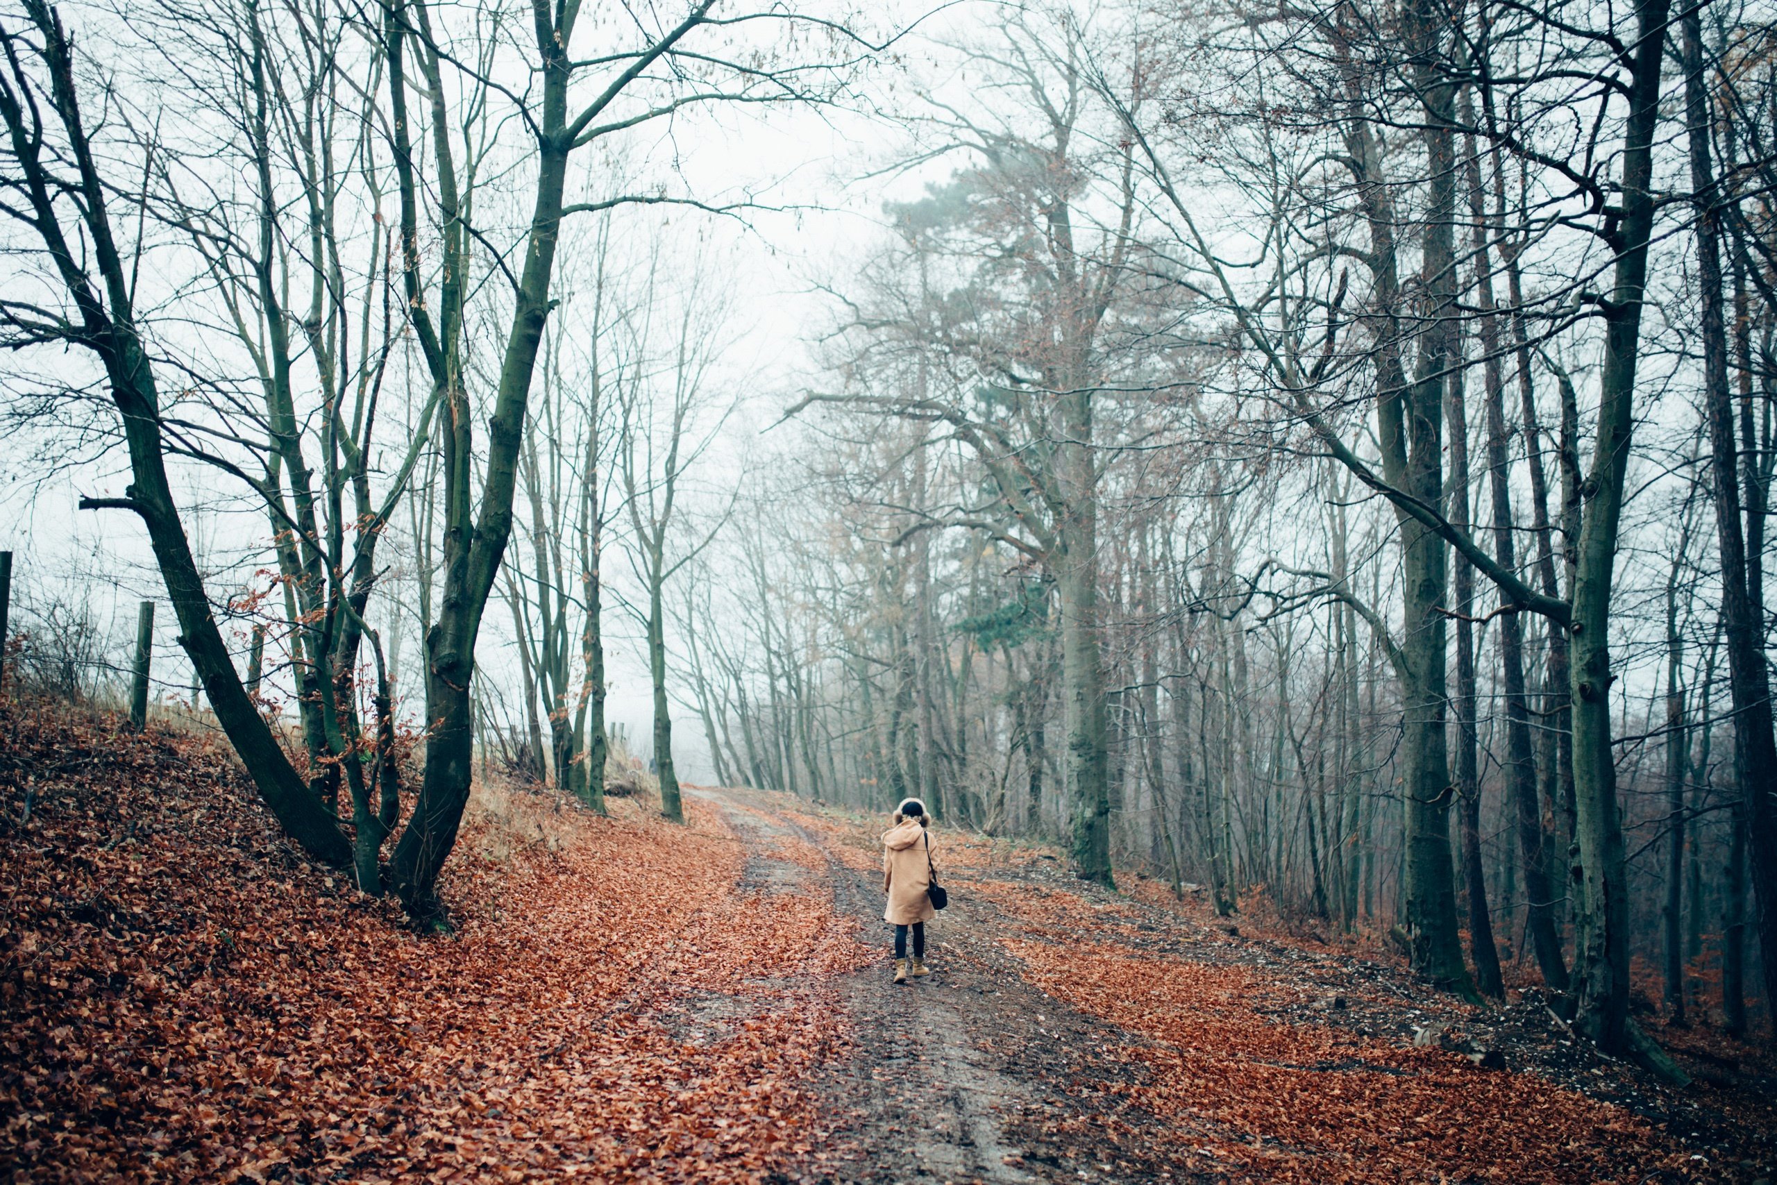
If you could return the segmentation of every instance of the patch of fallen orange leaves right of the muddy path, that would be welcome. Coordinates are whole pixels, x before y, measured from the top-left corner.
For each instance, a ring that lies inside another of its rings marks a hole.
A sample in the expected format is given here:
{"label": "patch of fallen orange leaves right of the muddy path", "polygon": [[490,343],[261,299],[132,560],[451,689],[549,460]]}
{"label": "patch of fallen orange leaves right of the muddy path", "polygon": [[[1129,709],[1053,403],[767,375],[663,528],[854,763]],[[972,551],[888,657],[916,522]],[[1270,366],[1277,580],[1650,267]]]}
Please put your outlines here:
{"label": "patch of fallen orange leaves right of the muddy path", "polygon": [[1130,1093],[1205,1165],[1276,1181],[1640,1181],[1686,1162],[1651,1125],[1535,1075],[1331,1025],[1272,1023],[1276,986],[1237,966],[1120,945],[1006,940],[1068,1004],[1151,1038]]}

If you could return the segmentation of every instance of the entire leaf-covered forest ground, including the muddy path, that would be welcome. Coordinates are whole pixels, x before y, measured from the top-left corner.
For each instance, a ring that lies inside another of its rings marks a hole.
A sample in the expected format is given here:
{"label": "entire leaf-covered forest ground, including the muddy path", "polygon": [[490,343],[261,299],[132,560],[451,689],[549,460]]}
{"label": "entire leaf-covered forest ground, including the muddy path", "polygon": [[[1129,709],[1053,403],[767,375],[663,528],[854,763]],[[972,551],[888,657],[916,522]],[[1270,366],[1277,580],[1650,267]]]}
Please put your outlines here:
{"label": "entire leaf-covered forest ground, including the muddy path", "polygon": [[11,1181],[1756,1181],[1773,1066],[1663,1086],[1535,990],[1111,894],[944,831],[933,975],[880,821],[476,787],[457,931],[306,863],[213,732],[0,712]]}

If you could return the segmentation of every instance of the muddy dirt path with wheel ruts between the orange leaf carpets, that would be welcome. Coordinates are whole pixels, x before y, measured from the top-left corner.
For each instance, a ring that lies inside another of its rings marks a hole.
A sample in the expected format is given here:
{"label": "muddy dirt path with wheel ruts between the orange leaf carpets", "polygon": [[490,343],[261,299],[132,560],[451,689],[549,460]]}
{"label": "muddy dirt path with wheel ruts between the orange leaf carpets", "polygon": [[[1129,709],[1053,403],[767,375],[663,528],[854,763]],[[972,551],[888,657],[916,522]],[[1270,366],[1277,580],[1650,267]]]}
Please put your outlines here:
{"label": "muddy dirt path with wheel ruts between the orange leaf carpets", "polygon": [[[835,913],[881,952],[833,984],[857,1048],[825,1068],[823,1139],[796,1176],[873,1185],[1223,1180],[1155,1158],[1144,1130],[1157,1117],[1120,1091],[1139,1073],[1116,1057],[1130,1036],[1027,982],[995,940],[990,903],[954,895],[928,926],[931,975],[896,986],[880,876],[780,817],[766,796],[688,792],[716,805],[746,844],[743,890],[832,894]],[[773,855],[785,839],[810,844],[825,867]]]}

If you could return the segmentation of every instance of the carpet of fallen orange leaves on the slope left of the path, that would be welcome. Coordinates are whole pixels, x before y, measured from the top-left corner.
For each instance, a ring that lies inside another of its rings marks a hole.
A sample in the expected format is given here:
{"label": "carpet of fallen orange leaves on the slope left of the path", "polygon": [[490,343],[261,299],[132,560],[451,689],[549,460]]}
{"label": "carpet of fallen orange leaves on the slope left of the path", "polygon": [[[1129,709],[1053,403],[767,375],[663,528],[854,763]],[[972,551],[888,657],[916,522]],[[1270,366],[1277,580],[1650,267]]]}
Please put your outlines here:
{"label": "carpet of fallen orange leaves on the slope left of the path", "polygon": [[4,730],[14,1180],[752,1181],[805,1141],[860,952],[819,897],[739,897],[711,812],[528,796],[551,844],[471,815],[458,933],[421,938],[297,860],[210,737]]}

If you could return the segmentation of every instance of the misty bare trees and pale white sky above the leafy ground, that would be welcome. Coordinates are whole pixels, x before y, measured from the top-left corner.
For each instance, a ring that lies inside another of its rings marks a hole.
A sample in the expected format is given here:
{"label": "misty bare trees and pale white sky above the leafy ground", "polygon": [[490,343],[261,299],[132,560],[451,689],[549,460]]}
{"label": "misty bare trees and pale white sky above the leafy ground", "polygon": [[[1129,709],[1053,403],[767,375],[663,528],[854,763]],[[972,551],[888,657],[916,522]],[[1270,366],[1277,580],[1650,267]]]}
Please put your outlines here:
{"label": "misty bare trees and pale white sky above the leafy ground", "polygon": [[[629,661],[670,817],[675,746],[920,796],[1665,1073],[1637,975],[1772,998],[1768,7],[0,30],[11,476],[146,528],[364,892],[435,917],[489,762],[602,808]],[[773,121],[867,130],[849,213],[675,156]]]}

